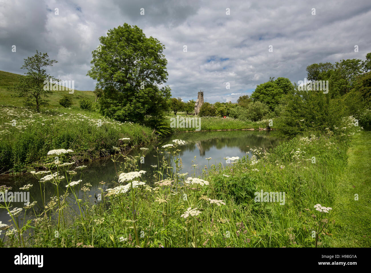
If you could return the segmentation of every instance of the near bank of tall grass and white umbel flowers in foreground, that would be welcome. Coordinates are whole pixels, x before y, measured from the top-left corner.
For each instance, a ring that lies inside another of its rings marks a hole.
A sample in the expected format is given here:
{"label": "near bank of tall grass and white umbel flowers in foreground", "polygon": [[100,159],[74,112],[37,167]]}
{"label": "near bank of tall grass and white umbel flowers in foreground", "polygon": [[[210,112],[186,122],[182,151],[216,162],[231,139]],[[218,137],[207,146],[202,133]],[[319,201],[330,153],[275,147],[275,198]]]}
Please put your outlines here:
{"label": "near bank of tall grass and white umbel flowers in foreground", "polygon": [[[224,164],[208,165],[198,178],[182,173],[179,151],[184,144],[174,140],[158,149],[154,188],[141,178],[138,159],[127,158],[124,165],[117,166],[110,188],[102,184],[97,203],[91,205],[86,194],[76,196],[76,202],[85,208],[83,213],[76,215],[70,209],[69,202],[74,200],[60,200],[61,205],[53,202],[55,213],[63,206],[63,225],[49,218],[35,221],[33,246],[335,246],[334,239],[340,242],[336,236],[348,232],[336,226],[336,215],[339,176],[348,168],[347,150],[353,133],[308,134],[281,142],[270,151],[252,148],[250,159],[230,158]],[[166,150],[170,157],[163,157]],[[171,180],[161,180],[165,173]],[[72,181],[69,173],[65,176]],[[83,173],[81,179],[83,182],[69,183],[85,192],[91,185]],[[76,192],[77,188],[64,186],[66,181],[60,184],[59,178],[54,183],[63,191]],[[354,227],[359,224],[354,221]],[[55,230],[59,238],[49,235]],[[6,244],[17,246],[20,242],[14,236]]]}

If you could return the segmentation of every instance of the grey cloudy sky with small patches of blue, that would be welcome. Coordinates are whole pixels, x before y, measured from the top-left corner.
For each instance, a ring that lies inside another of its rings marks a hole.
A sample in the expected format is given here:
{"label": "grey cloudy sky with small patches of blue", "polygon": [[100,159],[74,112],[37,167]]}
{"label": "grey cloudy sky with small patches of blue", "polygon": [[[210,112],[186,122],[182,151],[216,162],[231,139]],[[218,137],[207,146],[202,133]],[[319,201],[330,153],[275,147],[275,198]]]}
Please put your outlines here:
{"label": "grey cloudy sky with small patches of blue", "polygon": [[124,23],[165,45],[167,85],[185,101],[203,90],[210,103],[235,102],[269,77],[303,81],[310,64],[371,52],[370,0],[0,0],[0,70],[23,74],[38,50],[58,61],[50,74],[93,90],[91,52]]}

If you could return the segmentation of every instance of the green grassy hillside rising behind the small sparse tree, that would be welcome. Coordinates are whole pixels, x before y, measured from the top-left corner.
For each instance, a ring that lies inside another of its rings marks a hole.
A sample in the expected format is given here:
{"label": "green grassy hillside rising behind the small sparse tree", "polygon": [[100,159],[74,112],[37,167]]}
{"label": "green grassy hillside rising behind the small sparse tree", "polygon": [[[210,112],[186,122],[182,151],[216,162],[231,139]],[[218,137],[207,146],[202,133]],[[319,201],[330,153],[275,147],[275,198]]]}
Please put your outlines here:
{"label": "green grassy hillside rising behind the small sparse tree", "polygon": [[[23,107],[22,98],[12,97],[12,94],[7,91],[8,87],[12,87],[17,82],[19,74],[13,74],[0,70],[0,105]],[[59,104],[59,100],[63,95],[68,94],[68,91],[53,91],[53,94],[48,97],[49,106],[45,108],[63,108]],[[79,100],[82,98],[88,98],[89,100],[95,101],[95,95],[93,91],[80,91],[75,90],[73,94],[69,94],[72,98],[71,108],[79,108]],[[44,107],[43,107],[44,108]]]}

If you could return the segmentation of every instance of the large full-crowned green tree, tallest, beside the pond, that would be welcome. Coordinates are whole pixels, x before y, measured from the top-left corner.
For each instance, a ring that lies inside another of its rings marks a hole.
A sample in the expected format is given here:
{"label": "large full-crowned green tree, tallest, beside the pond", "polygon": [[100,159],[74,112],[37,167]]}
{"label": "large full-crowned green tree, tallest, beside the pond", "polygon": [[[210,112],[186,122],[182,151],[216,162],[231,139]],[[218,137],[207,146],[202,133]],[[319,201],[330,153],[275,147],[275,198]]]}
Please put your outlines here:
{"label": "large full-crowned green tree, tallest, beside the pond", "polygon": [[125,23],[99,38],[92,52],[88,75],[103,89],[99,99],[104,115],[120,121],[150,123],[168,111],[169,87],[165,46],[152,36],[147,38],[138,26]]}

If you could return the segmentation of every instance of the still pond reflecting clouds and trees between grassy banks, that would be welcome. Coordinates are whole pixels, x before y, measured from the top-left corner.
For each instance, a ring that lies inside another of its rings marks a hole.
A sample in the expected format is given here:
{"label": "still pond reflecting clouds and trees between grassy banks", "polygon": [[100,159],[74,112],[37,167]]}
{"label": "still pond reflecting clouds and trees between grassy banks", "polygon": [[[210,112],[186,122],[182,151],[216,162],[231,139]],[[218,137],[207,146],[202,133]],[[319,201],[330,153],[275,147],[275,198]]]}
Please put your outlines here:
{"label": "still pond reflecting clouds and trees between grassy banks", "polygon": [[[173,143],[174,139],[184,140],[186,143],[183,146],[179,146],[181,149],[179,156],[183,162],[182,173],[193,174],[196,172],[200,174],[205,168],[205,166],[210,166],[212,164],[218,165],[222,163],[224,166],[228,165],[224,157],[243,157],[252,156],[250,149],[255,149],[258,147],[264,147],[270,149],[279,143],[279,139],[273,136],[274,132],[266,131],[207,131],[207,132],[186,132],[173,134],[170,137],[161,139],[160,142],[151,143],[147,146],[149,150],[142,152],[139,148],[131,150],[128,155],[137,156],[144,153],[144,162],[139,163],[142,170],[147,171],[143,180],[147,180],[151,183],[153,179],[153,174],[155,168],[152,166],[159,165],[158,159],[161,160],[162,156],[157,157],[156,149],[164,151],[161,147],[165,144]],[[166,153],[162,154],[166,156]],[[195,158],[196,157],[196,158]],[[209,158],[207,160],[206,158]],[[143,160],[142,160],[143,161]],[[110,188],[112,185],[112,180],[115,178],[115,164],[111,160],[111,157],[106,157],[103,159],[95,160],[91,163],[84,163],[87,165],[86,169],[77,170],[78,175],[73,177],[73,181],[80,178],[82,179],[82,184],[90,183],[92,185],[89,195],[92,202],[95,202],[94,196],[101,192],[99,188],[104,190]],[[119,166],[119,162],[116,162],[116,167]],[[151,166],[152,165],[152,166]],[[161,165],[161,162],[160,162]],[[197,165],[195,170],[192,165]],[[174,166],[175,169],[175,166]],[[73,170],[73,168],[71,168]],[[185,176],[187,177],[187,176]],[[105,182],[103,185],[102,182]],[[38,204],[42,204],[41,192],[39,182],[33,175],[25,174],[20,176],[2,176],[0,177],[0,185],[12,186],[10,191],[12,192],[24,192],[19,188],[27,185],[33,184],[32,188],[29,190],[29,202],[37,201]],[[66,179],[62,180],[61,187],[63,189],[67,184]],[[45,183],[45,197],[46,200],[50,196],[55,194],[55,187],[50,183]],[[79,194],[83,194],[82,191]],[[27,200],[26,200],[27,201]],[[22,208],[24,207],[23,202],[13,202],[12,208]],[[36,207],[35,207],[36,208]],[[7,215],[6,209],[0,209],[0,221],[7,222],[10,217]]]}

